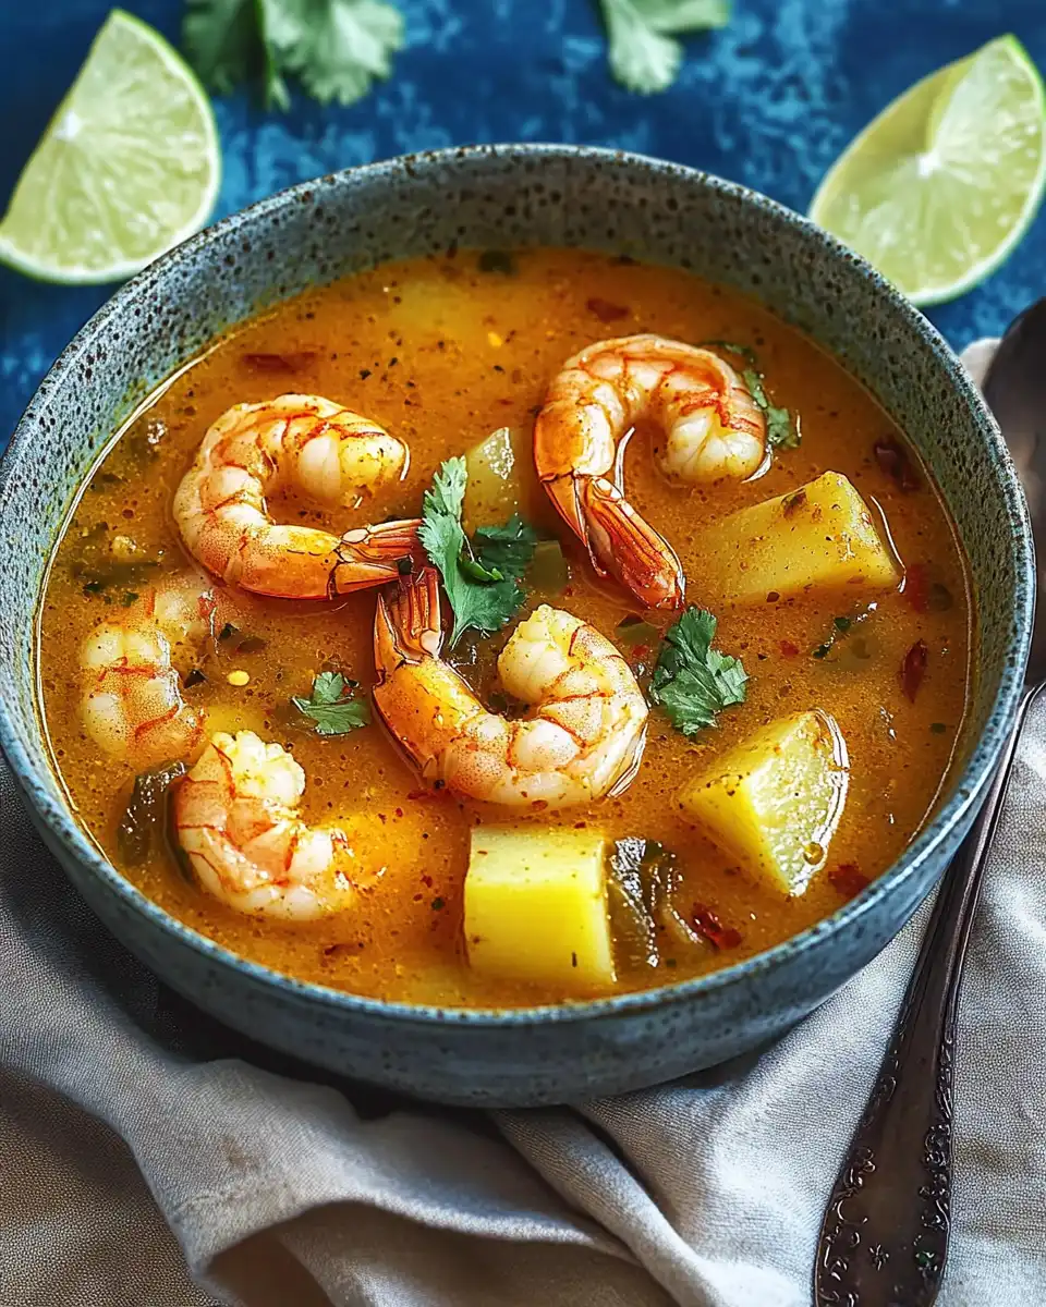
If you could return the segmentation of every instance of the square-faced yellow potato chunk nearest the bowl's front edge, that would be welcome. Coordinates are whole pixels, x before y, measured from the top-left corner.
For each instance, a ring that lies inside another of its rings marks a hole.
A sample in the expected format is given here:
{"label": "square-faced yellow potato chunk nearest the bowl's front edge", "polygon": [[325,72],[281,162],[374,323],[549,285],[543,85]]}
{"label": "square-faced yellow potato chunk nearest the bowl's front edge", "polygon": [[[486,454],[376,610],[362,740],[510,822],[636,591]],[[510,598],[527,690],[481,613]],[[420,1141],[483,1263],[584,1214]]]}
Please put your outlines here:
{"label": "square-faced yellow potato chunk nearest the bowl's front edge", "polygon": [[465,876],[477,971],[591,993],[615,982],[607,840],[588,830],[477,826]]}

